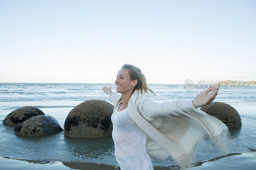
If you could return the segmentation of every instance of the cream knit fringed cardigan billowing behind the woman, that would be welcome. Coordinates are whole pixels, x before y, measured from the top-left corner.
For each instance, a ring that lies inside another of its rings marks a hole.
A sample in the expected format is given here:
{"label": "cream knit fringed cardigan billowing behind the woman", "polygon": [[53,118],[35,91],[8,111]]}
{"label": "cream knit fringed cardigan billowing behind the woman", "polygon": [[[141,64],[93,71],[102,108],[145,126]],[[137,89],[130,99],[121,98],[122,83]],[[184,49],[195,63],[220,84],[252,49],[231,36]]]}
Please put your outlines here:
{"label": "cream knit fringed cardigan billowing behind the woman", "polygon": [[[113,93],[109,100],[115,110],[122,102],[122,95]],[[185,158],[182,156],[191,155],[205,135],[220,145],[230,136],[223,122],[194,107],[192,99],[158,103],[135,90],[127,111],[136,126],[148,135],[146,151],[153,159],[165,160],[171,156],[177,162]]]}

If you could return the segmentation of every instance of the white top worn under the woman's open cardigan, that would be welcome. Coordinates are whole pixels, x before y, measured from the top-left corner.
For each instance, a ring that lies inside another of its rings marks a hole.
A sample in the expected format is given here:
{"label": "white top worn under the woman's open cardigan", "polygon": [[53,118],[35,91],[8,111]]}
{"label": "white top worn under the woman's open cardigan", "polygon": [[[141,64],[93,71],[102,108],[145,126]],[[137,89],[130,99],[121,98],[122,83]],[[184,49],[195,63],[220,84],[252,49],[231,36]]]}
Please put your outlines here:
{"label": "white top worn under the woman's open cardigan", "polygon": [[154,170],[145,147],[148,136],[138,129],[127,108],[117,112],[119,106],[111,115],[116,161],[122,170]]}

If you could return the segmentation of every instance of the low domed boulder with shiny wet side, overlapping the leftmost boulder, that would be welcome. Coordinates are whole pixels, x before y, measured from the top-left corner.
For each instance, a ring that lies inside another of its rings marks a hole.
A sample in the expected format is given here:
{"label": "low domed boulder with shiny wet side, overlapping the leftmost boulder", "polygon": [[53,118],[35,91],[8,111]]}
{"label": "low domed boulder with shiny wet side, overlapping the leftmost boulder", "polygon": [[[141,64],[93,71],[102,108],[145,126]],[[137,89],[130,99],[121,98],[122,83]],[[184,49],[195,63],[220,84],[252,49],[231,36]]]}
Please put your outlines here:
{"label": "low domed boulder with shiny wet side, overlapping the leftmost boulder", "polygon": [[15,127],[14,133],[24,136],[43,136],[58,133],[63,125],[49,115],[38,115],[29,118]]}

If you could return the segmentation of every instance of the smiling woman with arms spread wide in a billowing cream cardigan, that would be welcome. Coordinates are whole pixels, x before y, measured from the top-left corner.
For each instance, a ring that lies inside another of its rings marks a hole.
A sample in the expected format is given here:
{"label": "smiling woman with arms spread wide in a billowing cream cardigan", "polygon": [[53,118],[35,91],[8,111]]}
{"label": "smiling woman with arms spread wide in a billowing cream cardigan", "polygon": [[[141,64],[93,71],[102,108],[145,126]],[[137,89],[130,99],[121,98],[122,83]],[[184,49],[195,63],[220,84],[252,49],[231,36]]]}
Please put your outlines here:
{"label": "smiling woman with arms spread wide in a billowing cream cardigan", "polygon": [[230,136],[223,122],[198,109],[215,99],[220,85],[209,87],[193,100],[157,103],[142,96],[155,93],[132,64],[122,66],[115,83],[121,95],[114,94],[110,85],[102,90],[114,103],[112,138],[119,169],[152,170],[150,156],[159,160],[171,156],[180,167],[191,167],[194,146],[204,135],[222,147]]}

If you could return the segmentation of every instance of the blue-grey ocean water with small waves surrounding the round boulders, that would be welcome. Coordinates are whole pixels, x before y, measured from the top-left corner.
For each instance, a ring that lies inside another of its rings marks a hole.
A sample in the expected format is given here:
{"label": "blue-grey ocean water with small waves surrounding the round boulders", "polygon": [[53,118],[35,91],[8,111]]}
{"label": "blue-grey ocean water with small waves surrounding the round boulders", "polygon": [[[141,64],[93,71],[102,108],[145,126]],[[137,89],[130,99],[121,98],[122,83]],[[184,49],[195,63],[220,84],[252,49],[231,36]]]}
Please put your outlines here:
{"label": "blue-grey ocean water with small waves surrounding the round boulders", "polygon": [[[13,110],[24,106],[37,107],[45,115],[56,118],[63,126],[68,113],[85,100],[109,101],[103,86],[93,83],[0,83],[0,169],[116,169],[115,145],[112,137],[97,139],[72,138],[61,131],[38,137],[14,134],[15,126],[5,126],[3,120]],[[149,84],[156,95],[145,97],[156,102],[194,99],[207,87],[196,85],[187,90],[184,85]],[[202,141],[196,152],[198,166],[190,169],[256,169],[256,86],[240,88],[224,86],[215,100],[234,107],[242,120],[241,128],[229,129],[231,146],[227,155]],[[113,104],[113,103],[111,103]],[[172,158],[152,159],[154,169],[179,169]],[[117,168],[118,169],[118,168]]]}

